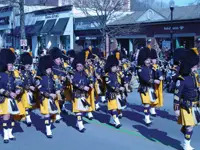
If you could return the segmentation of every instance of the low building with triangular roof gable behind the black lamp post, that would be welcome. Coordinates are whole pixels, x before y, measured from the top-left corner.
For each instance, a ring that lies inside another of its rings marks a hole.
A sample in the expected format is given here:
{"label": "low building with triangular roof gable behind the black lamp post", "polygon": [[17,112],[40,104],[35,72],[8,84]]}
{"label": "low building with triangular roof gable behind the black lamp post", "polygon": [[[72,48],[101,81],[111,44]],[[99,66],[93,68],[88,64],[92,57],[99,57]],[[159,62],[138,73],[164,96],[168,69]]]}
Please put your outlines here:
{"label": "low building with triangular roof gable behind the black lamp post", "polygon": [[[186,13],[187,12],[187,13]],[[194,46],[194,40],[200,36],[200,7],[183,6],[175,7],[173,12],[173,22],[171,22],[170,9],[162,9],[157,12],[153,9],[146,11],[135,11],[110,24],[110,27],[137,25],[137,31],[130,30],[126,33],[119,33],[115,38],[120,47],[129,51],[137,47],[145,46],[147,38],[154,38],[161,49],[171,49],[171,31],[173,34],[173,45],[175,48],[184,46],[186,48]],[[172,30],[171,30],[172,26]]]}

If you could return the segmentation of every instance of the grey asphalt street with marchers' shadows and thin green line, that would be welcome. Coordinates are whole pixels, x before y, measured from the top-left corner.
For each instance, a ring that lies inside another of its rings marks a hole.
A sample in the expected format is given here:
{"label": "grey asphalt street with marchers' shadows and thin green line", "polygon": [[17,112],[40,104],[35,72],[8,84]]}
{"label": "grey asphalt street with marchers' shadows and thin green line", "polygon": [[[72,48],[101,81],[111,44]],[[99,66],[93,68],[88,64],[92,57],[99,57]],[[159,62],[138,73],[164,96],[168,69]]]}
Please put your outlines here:
{"label": "grey asphalt street with marchers' shadows and thin green line", "polygon": [[[94,114],[94,120],[84,118],[85,133],[76,130],[76,118],[72,113],[63,114],[64,120],[60,124],[54,123],[53,139],[46,138],[43,120],[35,111],[32,113],[34,125],[28,128],[24,123],[17,124],[14,131],[17,140],[4,144],[1,137],[0,147],[1,150],[180,150],[184,138],[180,132],[181,126],[173,115],[173,95],[165,93],[164,100],[164,107],[157,111],[157,117],[152,117],[151,127],[144,125],[143,107],[138,93],[134,91],[128,97],[129,104],[124,110],[120,129],[108,124],[106,105],[101,104],[101,110]],[[199,129],[195,127],[192,137],[192,146],[196,149],[200,147]]]}

